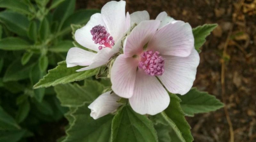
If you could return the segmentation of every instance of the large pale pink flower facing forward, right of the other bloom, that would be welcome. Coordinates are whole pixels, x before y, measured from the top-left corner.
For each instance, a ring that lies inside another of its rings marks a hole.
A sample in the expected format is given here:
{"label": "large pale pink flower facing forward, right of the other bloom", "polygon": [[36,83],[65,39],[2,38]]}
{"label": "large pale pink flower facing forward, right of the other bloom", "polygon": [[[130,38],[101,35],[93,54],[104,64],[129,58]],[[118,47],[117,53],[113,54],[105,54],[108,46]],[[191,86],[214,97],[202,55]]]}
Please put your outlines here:
{"label": "large pale pink flower facing forward, right of the other bloom", "polygon": [[112,90],[129,98],[133,110],[142,115],[155,115],[168,107],[170,97],[165,88],[171,93],[187,93],[199,64],[191,26],[165,12],[157,19],[141,21],[132,30],[124,41],[124,54],[111,69]]}

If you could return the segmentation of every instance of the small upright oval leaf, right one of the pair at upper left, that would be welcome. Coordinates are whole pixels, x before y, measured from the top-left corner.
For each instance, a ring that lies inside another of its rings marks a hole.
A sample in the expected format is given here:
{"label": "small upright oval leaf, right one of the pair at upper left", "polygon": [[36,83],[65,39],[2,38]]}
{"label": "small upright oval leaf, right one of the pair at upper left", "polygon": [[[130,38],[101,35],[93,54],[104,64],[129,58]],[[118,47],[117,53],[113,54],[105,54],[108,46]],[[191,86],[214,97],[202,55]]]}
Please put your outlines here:
{"label": "small upright oval leaf, right one of the pair at upper left", "polygon": [[50,34],[50,25],[47,18],[44,18],[39,28],[39,35],[41,40],[46,40]]}

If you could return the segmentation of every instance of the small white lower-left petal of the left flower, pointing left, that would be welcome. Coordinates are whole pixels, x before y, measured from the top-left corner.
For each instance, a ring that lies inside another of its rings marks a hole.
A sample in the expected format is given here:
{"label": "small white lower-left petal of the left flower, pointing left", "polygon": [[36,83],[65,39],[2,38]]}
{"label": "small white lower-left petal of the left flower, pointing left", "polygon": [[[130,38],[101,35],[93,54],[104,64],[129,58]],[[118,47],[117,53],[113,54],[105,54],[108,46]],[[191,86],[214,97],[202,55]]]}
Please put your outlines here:
{"label": "small white lower-left petal of the left flower, pointing left", "polygon": [[88,66],[92,63],[92,58],[95,56],[95,53],[73,47],[68,50],[68,55],[66,58],[67,67],[74,67],[77,65]]}

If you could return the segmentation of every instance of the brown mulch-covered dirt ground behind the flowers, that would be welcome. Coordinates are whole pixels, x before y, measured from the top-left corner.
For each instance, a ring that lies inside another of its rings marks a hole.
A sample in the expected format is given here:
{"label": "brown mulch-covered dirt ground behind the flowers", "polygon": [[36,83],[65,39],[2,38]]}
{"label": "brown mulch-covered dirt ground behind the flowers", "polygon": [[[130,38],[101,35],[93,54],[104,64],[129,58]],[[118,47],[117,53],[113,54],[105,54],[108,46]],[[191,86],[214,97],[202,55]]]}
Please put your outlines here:
{"label": "brown mulch-covered dirt ground behind the flowers", "polygon": [[[77,8],[101,9],[106,2],[108,0],[77,0]],[[126,2],[127,11],[147,10],[151,19],[166,11],[174,19],[189,22],[192,27],[219,24],[202,48],[194,86],[222,100],[221,63],[225,61],[226,93],[223,99],[233,124],[235,142],[256,142],[256,0]],[[239,4],[241,8],[237,11]],[[229,32],[231,36],[228,36]],[[224,48],[226,54],[222,56]],[[224,109],[188,117],[187,120],[195,142],[228,142],[230,139]]]}

